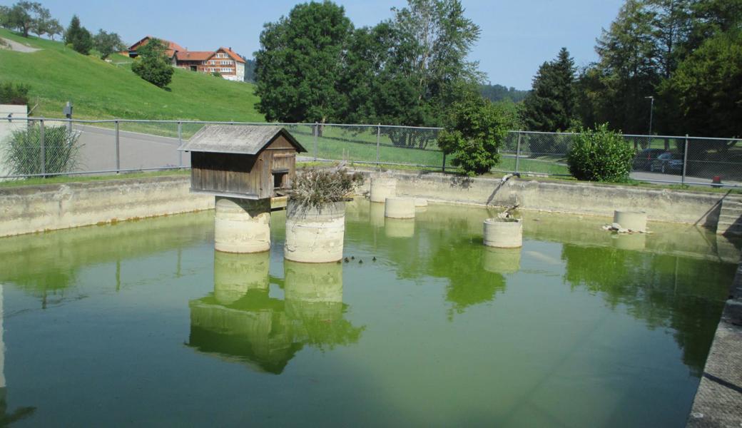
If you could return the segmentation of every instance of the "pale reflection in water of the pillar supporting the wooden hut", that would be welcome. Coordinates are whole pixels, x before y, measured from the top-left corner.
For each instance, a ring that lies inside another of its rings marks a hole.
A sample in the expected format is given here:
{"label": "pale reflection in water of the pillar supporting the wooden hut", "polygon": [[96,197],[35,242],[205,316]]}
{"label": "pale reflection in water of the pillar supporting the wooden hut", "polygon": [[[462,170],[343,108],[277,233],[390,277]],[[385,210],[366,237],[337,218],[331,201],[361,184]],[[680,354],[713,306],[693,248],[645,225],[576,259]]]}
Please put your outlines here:
{"label": "pale reflection in water of the pillar supporting the wooden hut", "polygon": [[268,289],[270,252],[232,254],[214,251],[214,297],[223,305],[253,289]]}

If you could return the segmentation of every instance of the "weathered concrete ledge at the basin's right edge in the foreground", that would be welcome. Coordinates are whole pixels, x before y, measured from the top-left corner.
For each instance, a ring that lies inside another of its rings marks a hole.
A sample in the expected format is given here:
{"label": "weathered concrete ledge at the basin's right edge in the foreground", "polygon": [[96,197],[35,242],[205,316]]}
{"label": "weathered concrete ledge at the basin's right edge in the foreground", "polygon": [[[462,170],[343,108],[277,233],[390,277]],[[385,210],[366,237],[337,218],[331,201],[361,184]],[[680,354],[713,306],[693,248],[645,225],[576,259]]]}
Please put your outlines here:
{"label": "weathered concrete ledge at the basin's right edge in the foreground", "polygon": [[742,263],[703,368],[688,427],[742,427]]}

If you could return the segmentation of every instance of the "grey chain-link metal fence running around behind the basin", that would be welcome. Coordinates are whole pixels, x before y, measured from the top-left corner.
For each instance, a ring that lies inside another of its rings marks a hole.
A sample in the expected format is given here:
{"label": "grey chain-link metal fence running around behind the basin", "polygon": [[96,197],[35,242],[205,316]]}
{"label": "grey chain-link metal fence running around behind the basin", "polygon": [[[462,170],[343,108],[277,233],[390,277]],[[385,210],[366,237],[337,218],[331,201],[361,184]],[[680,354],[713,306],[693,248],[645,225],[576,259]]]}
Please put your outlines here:
{"label": "grey chain-link metal fence running around behind the basin", "polygon": [[[113,174],[190,167],[177,148],[206,125],[282,125],[308,151],[300,161],[346,160],[453,171],[441,128],[395,125],[137,119],[0,119],[0,179]],[[577,134],[510,131],[493,171],[569,176]],[[742,185],[742,139],[624,135],[636,153],[631,178],[692,185]]]}

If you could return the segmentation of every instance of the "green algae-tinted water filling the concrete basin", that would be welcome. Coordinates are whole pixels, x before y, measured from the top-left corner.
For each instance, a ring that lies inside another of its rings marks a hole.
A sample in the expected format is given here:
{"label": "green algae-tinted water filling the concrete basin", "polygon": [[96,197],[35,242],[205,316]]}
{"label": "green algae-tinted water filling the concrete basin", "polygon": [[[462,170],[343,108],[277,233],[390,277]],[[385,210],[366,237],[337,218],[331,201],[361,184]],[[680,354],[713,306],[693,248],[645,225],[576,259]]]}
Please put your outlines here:
{"label": "green algae-tinted water filling the concrete basin", "polygon": [[523,248],[494,250],[490,215],[357,200],[326,265],[283,260],[283,212],[265,254],[215,254],[213,212],[2,239],[0,417],[683,427],[735,249],[525,213]]}

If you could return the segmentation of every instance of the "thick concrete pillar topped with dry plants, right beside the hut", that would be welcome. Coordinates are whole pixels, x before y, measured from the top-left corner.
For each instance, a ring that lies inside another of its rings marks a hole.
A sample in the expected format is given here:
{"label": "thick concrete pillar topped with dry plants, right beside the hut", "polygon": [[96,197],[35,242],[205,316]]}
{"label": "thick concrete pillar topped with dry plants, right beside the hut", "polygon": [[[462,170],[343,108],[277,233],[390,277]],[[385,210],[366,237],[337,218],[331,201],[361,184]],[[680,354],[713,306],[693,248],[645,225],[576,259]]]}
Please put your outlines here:
{"label": "thick concrete pillar topped with dry plants, right beside the hut", "polygon": [[321,208],[300,206],[292,200],[286,209],[283,257],[303,263],[329,263],[343,258],[345,203]]}

